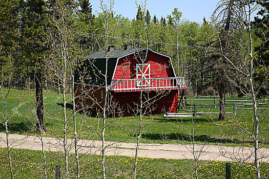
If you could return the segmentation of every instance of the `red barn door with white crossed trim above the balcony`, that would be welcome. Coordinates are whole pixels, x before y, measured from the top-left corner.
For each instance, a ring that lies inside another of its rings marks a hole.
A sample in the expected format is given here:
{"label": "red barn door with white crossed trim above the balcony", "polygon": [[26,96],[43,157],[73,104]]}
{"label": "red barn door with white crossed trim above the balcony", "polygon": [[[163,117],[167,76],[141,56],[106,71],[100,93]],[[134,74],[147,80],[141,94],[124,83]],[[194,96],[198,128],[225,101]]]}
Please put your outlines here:
{"label": "red barn door with white crossed trim above the balcony", "polygon": [[136,64],[136,79],[142,79],[137,80],[136,85],[141,86],[149,86],[150,85],[150,63],[144,63],[144,64]]}

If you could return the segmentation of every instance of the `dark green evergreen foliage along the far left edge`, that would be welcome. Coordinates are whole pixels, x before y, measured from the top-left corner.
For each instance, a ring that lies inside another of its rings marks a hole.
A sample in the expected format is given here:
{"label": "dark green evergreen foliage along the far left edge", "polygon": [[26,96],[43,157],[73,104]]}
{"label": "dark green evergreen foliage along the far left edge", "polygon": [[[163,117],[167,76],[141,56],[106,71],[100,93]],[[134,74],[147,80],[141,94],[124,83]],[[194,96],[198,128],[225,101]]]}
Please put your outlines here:
{"label": "dark green evergreen foliage along the far left edge", "polygon": [[21,49],[19,39],[22,36],[19,13],[22,1],[0,1],[0,85],[12,85],[17,82],[22,64],[17,58]]}

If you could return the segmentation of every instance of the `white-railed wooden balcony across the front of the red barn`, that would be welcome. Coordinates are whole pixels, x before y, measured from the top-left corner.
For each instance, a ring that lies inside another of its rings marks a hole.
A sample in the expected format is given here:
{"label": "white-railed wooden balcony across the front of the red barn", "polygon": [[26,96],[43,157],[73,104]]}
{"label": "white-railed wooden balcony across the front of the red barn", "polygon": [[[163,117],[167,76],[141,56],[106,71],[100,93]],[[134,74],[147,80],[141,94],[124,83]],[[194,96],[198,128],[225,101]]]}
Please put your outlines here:
{"label": "white-railed wooden balcony across the front of the red barn", "polygon": [[159,91],[185,89],[183,77],[147,78],[147,79],[113,79],[110,90],[114,92]]}

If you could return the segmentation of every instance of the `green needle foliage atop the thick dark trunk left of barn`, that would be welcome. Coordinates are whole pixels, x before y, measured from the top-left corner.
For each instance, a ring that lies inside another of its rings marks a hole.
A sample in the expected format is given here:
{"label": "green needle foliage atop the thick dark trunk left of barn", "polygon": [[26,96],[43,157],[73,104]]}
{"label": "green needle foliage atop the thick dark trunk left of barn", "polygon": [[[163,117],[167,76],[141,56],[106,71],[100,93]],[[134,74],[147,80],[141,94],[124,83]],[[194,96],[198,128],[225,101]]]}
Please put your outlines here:
{"label": "green needle foliage atop the thick dark trunk left of barn", "polygon": [[43,0],[29,0],[24,3],[22,15],[22,65],[26,72],[43,73],[46,57],[49,52],[46,43],[48,22],[46,19],[47,4]]}

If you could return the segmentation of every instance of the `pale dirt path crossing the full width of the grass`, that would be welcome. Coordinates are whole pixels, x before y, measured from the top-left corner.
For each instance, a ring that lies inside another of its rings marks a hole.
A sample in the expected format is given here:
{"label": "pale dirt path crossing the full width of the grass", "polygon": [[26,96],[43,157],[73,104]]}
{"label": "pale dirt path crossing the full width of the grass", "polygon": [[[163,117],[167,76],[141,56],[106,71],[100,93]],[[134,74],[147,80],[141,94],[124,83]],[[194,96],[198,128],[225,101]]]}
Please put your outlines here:
{"label": "pale dirt path crossing the full width of the grass", "polygon": [[[10,134],[9,141],[13,148],[42,150],[42,143],[38,137]],[[43,137],[45,150],[64,151],[63,140]],[[79,153],[100,154],[100,141],[79,140]],[[107,155],[134,156],[134,143],[107,142]],[[74,152],[73,140],[68,139],[70,152]],[[7,147],[6,134],[0,133],[0,147]],[[201,151],[199,160],[215,161],[249,161],[253,162],[253,148],[249,147],[225,147],[225,146],[201,146],[195,145],[195,152]],[[141,144],[139,156],[163,159],[194,159],[191,145],[176,144]],[[261,148],[260,154],[263,162],[269,162],[269,149]]]}

